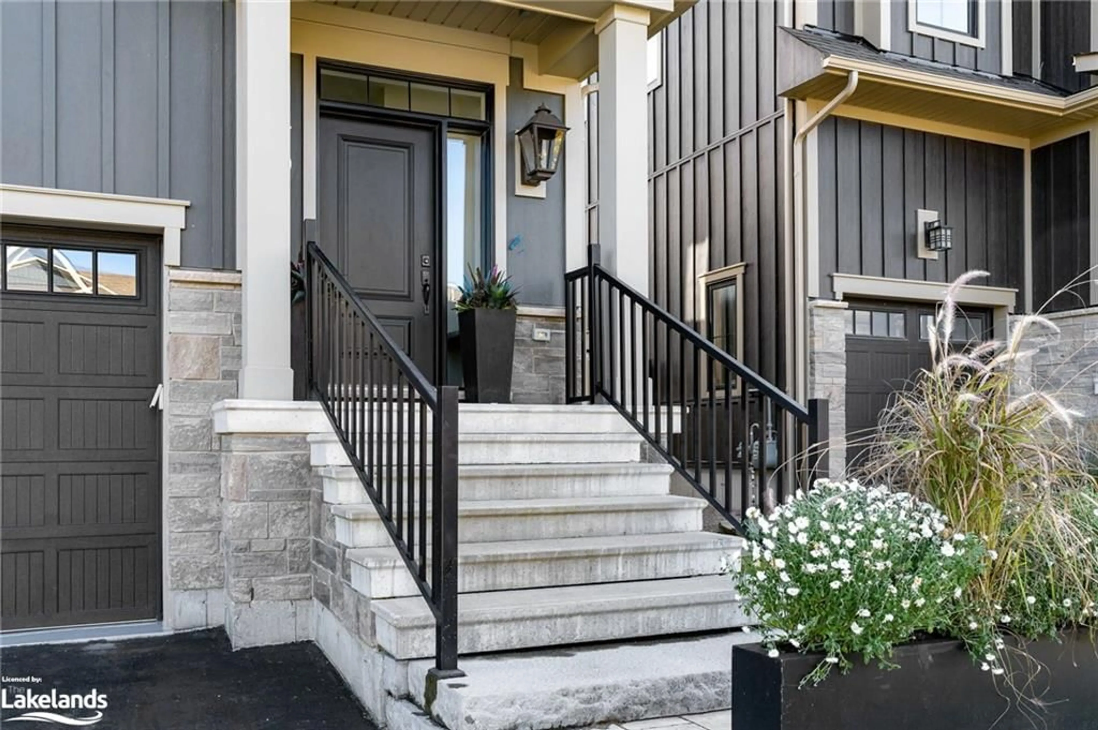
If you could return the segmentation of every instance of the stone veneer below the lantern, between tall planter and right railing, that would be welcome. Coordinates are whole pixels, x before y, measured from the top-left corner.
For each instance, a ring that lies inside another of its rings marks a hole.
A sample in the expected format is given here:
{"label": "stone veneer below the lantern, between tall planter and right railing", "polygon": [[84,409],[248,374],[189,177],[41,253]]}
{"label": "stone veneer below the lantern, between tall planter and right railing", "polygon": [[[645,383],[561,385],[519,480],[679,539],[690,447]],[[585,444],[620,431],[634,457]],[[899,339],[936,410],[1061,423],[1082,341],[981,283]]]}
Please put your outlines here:
{"label": "stone veneer below the lantern, between tall planter and right railing", "polygon": [[[535,340],[536,329],[548,332],[549,341]],[[564,402],[563,308],[518,307],[511,397],[514,403]]]}

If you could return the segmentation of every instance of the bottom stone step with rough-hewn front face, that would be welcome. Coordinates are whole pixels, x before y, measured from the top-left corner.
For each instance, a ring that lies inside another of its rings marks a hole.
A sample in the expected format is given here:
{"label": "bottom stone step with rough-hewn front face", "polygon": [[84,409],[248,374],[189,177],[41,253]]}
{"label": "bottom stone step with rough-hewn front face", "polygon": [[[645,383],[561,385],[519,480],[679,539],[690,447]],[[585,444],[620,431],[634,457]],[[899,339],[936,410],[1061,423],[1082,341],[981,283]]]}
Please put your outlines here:
{"label": "bottom stone step with rough-hewn front face", "polygon": [[[550,730],[727,709],[732,645],[758,640],[736,631],[466,658],[466,676],[434,688],[430,712],[449,730]],[[421,707],[432,665],[417,660],[408,666]]]}

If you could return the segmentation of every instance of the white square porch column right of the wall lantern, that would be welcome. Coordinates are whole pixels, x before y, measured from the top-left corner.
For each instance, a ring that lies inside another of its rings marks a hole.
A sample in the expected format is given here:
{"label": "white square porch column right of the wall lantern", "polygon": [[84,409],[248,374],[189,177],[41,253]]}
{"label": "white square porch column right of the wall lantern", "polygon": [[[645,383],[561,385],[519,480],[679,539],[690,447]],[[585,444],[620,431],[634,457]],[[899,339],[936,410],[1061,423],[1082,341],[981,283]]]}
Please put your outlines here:
{"label": "white square porch column right of the wall lantern", "polygon": [[603,266],[648,293],[648,11],[614,5],[598,34],[598,243]]}

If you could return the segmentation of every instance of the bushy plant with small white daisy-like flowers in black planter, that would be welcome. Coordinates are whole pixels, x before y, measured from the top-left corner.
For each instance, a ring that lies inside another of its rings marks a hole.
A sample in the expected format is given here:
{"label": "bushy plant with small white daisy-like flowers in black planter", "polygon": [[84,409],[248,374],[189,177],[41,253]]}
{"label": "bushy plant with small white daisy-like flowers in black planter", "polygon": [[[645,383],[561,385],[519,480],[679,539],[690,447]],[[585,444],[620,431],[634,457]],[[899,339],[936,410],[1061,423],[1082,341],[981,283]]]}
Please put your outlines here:
{"label": "bushy plant with small white daisy-like flowers in black planter", "polygon": [[893,647],[956,627],[985,564],[983,542],[931,505],[856,481],[821,480],[746,516],[737,589],[773,656],[780,645],[825,654],[803,684],[858,655],[889,665]]}

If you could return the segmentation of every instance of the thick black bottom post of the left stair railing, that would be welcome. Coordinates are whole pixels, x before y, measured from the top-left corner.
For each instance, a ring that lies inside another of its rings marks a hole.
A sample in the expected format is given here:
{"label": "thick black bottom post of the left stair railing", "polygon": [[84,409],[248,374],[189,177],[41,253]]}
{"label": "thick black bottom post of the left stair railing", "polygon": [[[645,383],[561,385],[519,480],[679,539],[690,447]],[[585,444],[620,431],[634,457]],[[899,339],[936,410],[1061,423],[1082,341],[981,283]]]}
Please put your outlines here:
{"label": "thick black bottom post of the left stair railing", "polygon": [[458,389],[438,389],[432,465],[432,592],[435,625],[435,680],[463,676],[458,670]]}

